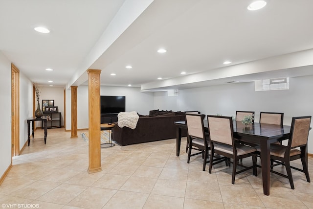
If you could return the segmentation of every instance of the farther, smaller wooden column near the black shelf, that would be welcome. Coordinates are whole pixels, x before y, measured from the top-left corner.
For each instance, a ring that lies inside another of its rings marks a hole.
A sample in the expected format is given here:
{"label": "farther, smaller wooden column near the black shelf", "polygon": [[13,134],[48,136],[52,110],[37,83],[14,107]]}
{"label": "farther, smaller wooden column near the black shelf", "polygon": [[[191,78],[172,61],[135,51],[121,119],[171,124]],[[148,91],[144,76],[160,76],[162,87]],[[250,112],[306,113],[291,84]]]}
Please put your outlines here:
{"label": "farther, smaller wooden column near the black shelf", "polygon": [[77,138],[77,86],[71,86],[71,135],[70,138]]}

